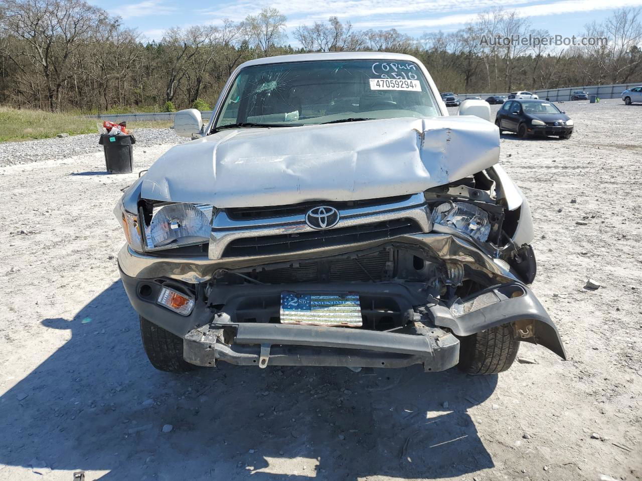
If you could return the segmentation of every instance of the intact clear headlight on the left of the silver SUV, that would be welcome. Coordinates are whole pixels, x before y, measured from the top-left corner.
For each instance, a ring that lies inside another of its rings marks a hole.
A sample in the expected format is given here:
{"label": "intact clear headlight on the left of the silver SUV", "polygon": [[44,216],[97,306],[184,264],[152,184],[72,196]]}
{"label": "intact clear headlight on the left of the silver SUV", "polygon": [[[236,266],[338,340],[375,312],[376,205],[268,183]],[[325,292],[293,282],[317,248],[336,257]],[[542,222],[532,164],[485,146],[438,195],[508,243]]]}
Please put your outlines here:
{"label": "intact clear headlight on the left of the silver SUV", "polygon": [[212,214],[211,205],[177,203],[161,207],[145,228],[147,250],[208,242]]}

